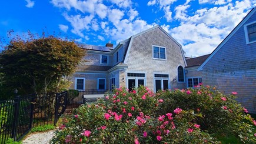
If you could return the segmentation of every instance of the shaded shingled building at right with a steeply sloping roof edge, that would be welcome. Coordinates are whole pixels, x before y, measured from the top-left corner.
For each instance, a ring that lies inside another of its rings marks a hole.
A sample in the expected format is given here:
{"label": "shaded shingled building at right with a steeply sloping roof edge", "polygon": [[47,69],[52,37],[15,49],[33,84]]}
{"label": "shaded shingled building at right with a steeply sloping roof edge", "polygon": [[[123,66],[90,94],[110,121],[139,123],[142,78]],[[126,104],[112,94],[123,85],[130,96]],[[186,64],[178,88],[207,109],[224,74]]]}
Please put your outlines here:
{"label": "shaded shingled building at right with a steeply sloping roof edge", "polygon": [[204,85],[217,86],[256,113],[256,8],[238,24],[198,68]]}

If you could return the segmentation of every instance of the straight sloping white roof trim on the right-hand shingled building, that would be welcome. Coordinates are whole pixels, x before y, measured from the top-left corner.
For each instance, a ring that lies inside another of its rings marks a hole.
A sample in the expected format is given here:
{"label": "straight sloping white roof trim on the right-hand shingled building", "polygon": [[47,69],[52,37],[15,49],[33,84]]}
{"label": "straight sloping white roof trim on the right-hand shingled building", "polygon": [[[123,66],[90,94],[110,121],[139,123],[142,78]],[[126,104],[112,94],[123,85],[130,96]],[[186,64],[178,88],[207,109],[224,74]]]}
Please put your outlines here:
{"label": "straight sloping white roof trim on the right-hand shingled building", "polygon": [[251,11],[244,17],[244,19],[242,19],[242,21],[237,26],[235,26],[235,28],[230,32],[230,34],[228,34],[228,36],[220,43],[220,45],[218,45],[217,48],[214,49],[211,55],[204,61],[204,63],[202,63],[202,65],[197,69],[197,71],[202,71],[202,68],[206,65],[206,63],[210,61],[210,59],[222,48],[223,45],[225,45],[225,43],[228,40],[230,40],[230,38],[238,31],[238,29],[240,29],[244,25],[244,23],[249,18],[251,18],[255,11],[256,7],[251,9]]}

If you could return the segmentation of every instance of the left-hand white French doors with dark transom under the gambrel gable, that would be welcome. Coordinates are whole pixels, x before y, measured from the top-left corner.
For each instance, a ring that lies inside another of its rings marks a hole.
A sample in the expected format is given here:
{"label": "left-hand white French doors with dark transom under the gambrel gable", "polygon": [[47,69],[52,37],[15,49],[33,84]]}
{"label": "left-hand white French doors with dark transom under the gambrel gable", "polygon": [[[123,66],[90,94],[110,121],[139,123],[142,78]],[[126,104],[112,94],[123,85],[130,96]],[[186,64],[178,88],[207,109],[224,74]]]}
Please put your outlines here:
{"label": "left-hand white French doors with dark transom under the gambrel gable", "polygon": [[128,89],[137,88],[139,85],[145,85],[145,73],[127,73]]}

